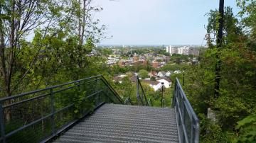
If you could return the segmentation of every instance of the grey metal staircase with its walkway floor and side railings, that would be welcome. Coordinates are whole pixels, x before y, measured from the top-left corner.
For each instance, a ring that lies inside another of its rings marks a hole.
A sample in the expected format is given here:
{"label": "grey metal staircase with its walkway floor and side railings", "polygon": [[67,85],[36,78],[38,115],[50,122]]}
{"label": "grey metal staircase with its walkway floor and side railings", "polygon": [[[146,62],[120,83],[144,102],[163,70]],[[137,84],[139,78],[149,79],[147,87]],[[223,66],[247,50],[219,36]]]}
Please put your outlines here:
{"label": "grey metal staircase with its walkway floor and side railings", "polygon": [[137,80],[137,105],[102,75],[1,98],[0,143],[198,142],[199,121],[178,79],[174,108],[150,107]]}

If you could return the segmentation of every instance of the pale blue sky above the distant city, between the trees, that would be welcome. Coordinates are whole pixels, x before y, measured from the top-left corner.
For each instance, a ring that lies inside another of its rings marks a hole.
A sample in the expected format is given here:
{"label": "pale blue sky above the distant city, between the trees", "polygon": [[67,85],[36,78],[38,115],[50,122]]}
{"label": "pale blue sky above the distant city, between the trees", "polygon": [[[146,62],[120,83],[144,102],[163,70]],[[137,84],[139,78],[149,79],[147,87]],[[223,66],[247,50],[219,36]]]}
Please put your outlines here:
{"label": "pale blue sky above the distant city, between the trees", "polygon": [[[95,14],[107,25],[101,45],[201,45],[210,9],[218,0],[95,0]],[[235,0],[225,6],[238,13]]]}

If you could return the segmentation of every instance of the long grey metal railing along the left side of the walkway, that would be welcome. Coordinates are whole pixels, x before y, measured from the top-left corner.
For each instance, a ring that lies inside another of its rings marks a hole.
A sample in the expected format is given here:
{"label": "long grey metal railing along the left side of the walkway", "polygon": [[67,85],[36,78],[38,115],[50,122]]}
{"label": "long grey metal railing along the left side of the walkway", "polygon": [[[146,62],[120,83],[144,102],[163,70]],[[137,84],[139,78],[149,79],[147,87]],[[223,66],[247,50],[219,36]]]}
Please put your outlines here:
{"label": "long grey metal railing along the left side of the walkway", "polygon": [[123,104],[102,76],[0,99],[0,142],[47,142],[104,103]]}

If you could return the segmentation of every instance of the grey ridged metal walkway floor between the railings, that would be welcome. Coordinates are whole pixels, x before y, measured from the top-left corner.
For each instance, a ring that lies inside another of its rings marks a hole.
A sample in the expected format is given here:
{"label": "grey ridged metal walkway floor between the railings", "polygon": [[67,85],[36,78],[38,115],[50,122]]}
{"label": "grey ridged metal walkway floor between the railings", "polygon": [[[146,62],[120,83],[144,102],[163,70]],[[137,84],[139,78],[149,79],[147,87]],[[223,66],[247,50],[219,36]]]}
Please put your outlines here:
{"label": "grey ridged metal walkway floor between the railings", "polygon": [[55,142],[178,142],[175,111],[105,104]]}

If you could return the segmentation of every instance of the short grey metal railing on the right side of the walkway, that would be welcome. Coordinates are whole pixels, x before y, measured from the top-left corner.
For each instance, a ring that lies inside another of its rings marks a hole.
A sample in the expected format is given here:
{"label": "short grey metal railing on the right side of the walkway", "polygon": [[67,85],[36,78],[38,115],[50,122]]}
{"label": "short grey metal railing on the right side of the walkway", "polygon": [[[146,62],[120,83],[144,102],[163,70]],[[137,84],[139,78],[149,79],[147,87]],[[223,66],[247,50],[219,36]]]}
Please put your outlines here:
{"label": "short grey metal railing on the right side of the walkway", "polygon": [[199,120],[177,78],[174,86],[173,107],[176,111],[179,141],[198,143]]}

